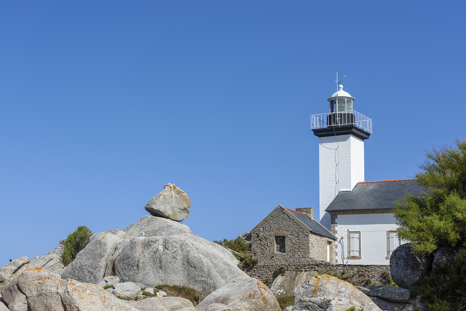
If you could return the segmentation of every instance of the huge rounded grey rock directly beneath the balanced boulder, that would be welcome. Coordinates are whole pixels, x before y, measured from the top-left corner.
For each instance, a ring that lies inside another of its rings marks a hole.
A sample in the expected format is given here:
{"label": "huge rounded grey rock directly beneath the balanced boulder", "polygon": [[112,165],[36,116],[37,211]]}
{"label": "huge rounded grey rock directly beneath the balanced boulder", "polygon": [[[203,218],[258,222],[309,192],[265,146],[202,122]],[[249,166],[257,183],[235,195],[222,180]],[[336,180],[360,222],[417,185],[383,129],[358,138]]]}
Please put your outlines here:
{"label": "huge rounded grey rock directly beneath the balanced boulder", "polygon": [[231,252],[177,221],[146,215],[124,231],[123,239],[130,241],[115,251],[113,264],[121,282],[187,286],[202,299],[223,284],[249,278]]}

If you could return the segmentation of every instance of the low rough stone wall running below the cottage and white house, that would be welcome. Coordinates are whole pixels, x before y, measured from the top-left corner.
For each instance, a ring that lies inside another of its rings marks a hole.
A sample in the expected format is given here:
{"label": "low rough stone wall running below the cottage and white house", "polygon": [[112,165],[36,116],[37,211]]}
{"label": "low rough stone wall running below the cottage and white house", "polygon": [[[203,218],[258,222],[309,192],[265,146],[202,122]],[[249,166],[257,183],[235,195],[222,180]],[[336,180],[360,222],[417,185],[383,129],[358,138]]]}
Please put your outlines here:
{"label": "low rough stone wall running below the cottage and white house", "polygon": [[280,269],[287,271],[316,271],[318,274],[329,273],[335,276],[343,275],[346,281],[360,286],[384,285],[387,279],[385,279],[386,276],[382,272],[388,271],[390,273],[390,266],[388,265],[334,264],[318,260],[311,260],[309,264],[258,264],[254,268],[244,269],[244,271],[247,275],[257,278],[263,283],[270,283],[274,281],[274,271]]}

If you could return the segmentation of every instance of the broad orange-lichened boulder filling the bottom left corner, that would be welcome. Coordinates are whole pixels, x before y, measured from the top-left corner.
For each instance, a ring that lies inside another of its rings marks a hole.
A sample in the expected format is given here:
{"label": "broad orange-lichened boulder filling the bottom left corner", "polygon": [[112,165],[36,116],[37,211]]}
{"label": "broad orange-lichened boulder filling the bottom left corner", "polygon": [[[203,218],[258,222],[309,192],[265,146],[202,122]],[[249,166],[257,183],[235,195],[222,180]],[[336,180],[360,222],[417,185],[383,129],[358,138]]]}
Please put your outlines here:
{"label": "broad orange-lichened boulder filling the bottom left corner", "polygon": [[21,308],[12,309],[13,302],[7,301],[10,297],[3,295],[10,311],[138,311],[94,284],[72,279],[62,280],[58,275],[41,268],[24,271],[21,276],[8,283],[8,290],[6,292],[4,288],[2,295],[5,292],[12,293],[10,297],[16,297],[20,296],[18,293],[22,293],[27,301]]}

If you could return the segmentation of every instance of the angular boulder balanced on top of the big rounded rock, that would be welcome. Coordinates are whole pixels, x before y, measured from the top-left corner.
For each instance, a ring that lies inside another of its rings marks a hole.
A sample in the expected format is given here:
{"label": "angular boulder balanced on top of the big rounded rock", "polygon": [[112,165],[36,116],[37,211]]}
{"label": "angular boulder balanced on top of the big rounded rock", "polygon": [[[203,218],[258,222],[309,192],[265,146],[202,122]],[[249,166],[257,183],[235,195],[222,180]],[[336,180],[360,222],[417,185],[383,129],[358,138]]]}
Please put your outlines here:
{"label": "angular boulder balanced on top of the big rounded rock", "polygon": [[164,190],[147,202],[145,209],[151,215],[184,221],[189,216],[191,200],[174,184],[165,185]]}

